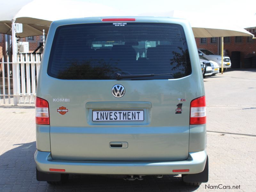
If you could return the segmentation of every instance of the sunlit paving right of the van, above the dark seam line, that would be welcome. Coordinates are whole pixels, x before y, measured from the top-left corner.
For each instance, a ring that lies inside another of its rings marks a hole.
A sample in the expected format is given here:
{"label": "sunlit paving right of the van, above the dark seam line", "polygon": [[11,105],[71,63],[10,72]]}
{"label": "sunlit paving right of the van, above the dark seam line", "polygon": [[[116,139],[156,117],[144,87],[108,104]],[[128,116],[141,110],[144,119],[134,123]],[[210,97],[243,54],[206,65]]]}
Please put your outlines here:
{"label": "sunlit paving right of the van, above the dark seam line", "polygon": [[204,79],[207,130],[256,135],[256,69]]}

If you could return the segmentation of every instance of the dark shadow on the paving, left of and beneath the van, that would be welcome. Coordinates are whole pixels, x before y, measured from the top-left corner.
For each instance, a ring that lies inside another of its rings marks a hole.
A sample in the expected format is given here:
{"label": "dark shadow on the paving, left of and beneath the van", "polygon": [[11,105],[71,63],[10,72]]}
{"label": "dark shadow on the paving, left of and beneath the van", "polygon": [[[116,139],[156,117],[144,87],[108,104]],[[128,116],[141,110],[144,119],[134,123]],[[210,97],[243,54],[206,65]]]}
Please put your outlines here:
{"label": "dark shadow on the paving, left of and beneath the van", "polygon": [[0,191],[195,191],[198,187],[185,186],[181,177],[165,175],[158,179],[146,176],[144,180],[125,181],[100,175],[69,175],[68,183],[49,185],[36,180],[34,153],[36,142],[14,144],[0,156]]}

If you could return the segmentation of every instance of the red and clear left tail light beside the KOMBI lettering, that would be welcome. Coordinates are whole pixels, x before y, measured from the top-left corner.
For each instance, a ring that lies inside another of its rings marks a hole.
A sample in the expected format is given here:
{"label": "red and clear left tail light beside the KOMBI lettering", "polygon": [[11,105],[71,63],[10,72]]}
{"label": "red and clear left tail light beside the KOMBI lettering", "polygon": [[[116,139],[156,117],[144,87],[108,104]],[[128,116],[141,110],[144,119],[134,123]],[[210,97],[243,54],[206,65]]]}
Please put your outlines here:
{"label": "red and clear left tail light beside the KOMBI lettering", "polygon": [[49,125],[49,104],[47,100],[36,97],[36,124]]}

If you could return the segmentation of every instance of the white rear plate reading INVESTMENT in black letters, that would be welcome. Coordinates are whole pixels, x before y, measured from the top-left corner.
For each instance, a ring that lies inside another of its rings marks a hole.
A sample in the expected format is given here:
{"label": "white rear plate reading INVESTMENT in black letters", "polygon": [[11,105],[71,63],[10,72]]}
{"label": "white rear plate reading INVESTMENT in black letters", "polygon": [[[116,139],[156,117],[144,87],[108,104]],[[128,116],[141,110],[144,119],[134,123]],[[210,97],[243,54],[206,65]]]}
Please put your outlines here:
{"label": "white rear plate reading INVESTMENT in black letters", "polygon": [[143,110],[93,110],[92,121],[144,121]]}

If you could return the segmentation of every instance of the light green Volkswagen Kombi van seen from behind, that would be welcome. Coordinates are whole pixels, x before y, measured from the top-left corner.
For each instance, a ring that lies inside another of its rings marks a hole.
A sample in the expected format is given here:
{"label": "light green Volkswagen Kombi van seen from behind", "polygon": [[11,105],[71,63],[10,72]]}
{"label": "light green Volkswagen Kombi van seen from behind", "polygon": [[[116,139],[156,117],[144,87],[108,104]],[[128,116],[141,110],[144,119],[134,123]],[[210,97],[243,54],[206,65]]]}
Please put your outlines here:
{"label": "light green Volkswagen Kombi van seen from behind", "polygon": [[54,21],[36,95],[36,177],[208,181],[203,76],[186,20]]}

